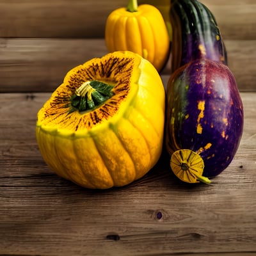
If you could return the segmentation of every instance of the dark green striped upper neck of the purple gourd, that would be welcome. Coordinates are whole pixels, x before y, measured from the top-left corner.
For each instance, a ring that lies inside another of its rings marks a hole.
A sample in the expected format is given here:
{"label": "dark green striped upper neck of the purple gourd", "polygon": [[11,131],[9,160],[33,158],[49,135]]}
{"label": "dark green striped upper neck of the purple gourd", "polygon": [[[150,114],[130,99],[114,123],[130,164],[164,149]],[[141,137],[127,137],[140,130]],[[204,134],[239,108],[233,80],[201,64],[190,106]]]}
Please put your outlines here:
{"label": "dark green striped upper neck of the purple gourd", "polygon": [[227,65],[227,50],[213,13],[197,0],[172,1],[172,72],[204,55]]}

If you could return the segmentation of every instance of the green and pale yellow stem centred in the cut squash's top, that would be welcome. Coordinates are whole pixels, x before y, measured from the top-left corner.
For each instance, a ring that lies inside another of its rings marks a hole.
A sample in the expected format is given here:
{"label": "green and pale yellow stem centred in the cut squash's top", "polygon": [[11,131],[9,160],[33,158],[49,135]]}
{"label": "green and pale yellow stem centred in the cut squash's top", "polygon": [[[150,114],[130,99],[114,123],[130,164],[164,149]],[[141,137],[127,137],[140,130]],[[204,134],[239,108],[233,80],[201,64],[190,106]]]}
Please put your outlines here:
{"label": "green and pale yellow stem centred in the cut squash's top", "polygon": [[113,96],[113,85],[100,81],[86,81],[77,88],[70,99],[70,113],[90,111]]}

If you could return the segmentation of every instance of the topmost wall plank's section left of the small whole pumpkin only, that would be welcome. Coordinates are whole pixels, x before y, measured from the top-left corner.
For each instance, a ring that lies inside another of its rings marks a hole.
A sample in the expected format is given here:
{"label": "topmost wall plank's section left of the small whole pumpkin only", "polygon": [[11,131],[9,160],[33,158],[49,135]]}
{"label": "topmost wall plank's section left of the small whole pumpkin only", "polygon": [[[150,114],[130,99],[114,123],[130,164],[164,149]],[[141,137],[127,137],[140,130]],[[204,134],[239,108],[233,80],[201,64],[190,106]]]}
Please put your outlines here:
{"label": "topmost wall plank's section left of the small whole pumpkin only", "polygon": [[125,0],[0,1],[0,37],[104,36],[108,14]]}

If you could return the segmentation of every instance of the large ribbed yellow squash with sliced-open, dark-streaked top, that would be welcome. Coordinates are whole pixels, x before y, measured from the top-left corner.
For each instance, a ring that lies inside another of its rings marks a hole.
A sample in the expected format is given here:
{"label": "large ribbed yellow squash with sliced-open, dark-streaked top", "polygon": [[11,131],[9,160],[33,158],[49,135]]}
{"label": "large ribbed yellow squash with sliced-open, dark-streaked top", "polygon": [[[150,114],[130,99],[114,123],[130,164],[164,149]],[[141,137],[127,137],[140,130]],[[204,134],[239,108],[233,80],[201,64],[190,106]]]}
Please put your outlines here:
{"label": "large ribbed yellow squash with sliced-open, dark-streaked top", "polygon": [[73,68],[38,111],[45,163],[86,188],[143,177],[162,150],[164,87],[153,65],[113,52]]}

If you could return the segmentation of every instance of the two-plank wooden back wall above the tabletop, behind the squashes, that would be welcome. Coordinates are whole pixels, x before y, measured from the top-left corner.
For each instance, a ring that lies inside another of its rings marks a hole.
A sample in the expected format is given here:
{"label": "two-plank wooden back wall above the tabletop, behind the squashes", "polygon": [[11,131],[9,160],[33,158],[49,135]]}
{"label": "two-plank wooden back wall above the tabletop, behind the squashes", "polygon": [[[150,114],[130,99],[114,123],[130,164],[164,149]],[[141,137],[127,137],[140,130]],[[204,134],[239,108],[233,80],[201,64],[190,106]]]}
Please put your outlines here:
{"label": "two-plank wooden back wall above the tabletop, behind the squashes", "polygon": [[[202,2],[216,16],[239,90],[255,91],[255,1]],[[156,4],[168,19],[169,0],[139,1],[143,3]],[[51,92],[70,68],[106,54],[106,18],[126,4],[127,0],[0,0],[0,92]],[[168,80],[170,67],[162,74]]]}

